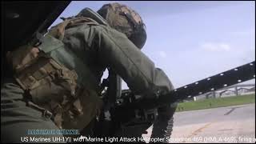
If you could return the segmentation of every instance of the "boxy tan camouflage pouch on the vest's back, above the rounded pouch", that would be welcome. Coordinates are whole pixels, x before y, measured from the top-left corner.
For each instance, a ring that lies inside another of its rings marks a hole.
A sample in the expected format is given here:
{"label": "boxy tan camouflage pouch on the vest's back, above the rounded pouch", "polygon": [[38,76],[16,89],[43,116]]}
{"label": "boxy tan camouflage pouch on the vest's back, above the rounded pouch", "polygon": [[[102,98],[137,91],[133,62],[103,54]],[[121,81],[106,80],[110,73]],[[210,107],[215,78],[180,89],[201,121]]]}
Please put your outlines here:
{"label": "boxy tan camouflage pouch on the vest's back, above the rounded pouch", "polygon": [[54,122],[61,128],[59,110],[65,102],[75,101],[78,76],[74,70],[68,70],[54,59],[42,55],[35,62],[29,62],[29,66],[16,71],[14,78],[28,92],[32,102],[54,114]]}

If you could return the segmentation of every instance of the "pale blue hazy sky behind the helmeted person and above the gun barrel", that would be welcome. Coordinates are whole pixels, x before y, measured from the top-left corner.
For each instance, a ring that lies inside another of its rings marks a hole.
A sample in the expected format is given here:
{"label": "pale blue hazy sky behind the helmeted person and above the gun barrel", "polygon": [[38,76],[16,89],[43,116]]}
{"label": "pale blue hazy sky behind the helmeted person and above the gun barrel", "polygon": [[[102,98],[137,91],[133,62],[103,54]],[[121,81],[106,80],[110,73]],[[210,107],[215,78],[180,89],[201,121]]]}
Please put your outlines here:
{"label": "pale blue hazy sky behind the helmeted person and above the gun barrel", "polygon": [[[85,7],[97,11],[109,2],[114,1],[73,1],[60,17],[78,14]],[[176,88],[255,61],[253,1],[118,2],[142,16],[147,33],[142,51]],[[53,25],[58,22],[59,18]]]}

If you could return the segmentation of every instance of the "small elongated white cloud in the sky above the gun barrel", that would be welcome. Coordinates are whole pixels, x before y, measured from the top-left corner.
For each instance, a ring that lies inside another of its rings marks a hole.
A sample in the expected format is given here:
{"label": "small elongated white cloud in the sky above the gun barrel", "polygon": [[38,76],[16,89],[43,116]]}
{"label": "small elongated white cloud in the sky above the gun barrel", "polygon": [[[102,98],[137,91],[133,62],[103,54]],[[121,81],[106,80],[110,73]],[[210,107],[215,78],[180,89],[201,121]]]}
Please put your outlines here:
{"label": "small elongated white cloud in the sky above the gun barrel", "polygon": [[222,51],[230,51],[230,45],[227,43],[223,43],[223,42],[206,42],[202,44],[202,49],[203,50],[207,50],[207,51],[218,51],[218,52],[222,52]]}

